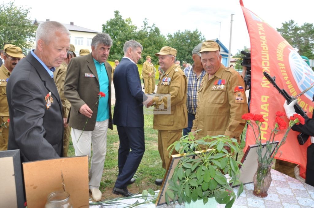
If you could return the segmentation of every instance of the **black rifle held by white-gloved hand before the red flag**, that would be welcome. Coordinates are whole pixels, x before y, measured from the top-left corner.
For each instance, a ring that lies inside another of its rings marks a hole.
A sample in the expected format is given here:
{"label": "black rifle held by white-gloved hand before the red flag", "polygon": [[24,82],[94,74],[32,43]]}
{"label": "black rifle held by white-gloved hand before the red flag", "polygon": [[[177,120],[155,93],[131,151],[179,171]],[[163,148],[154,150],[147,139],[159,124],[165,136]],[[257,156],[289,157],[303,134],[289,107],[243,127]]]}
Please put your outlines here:
{"label": "black rifle held by white-gloved hand before the red flag", "polygon": [[[280,89],[279,86],[276,84],[276,77],[271,77],[266,71],[263,72],[264,76],[268,79],[268,81],[279,91],[279,93],[284,96],[284,99],[287,100],[287,104],[289,105],[291,101],[295,100],[295,97],[291,97],[284,89]],[[301,106],[298,103],[295,103],[294,105],[295,112],[299,113],[302,117],[308,118],[306,115],[306,112],[301,108]],[[306,135],[305,133],[300,133],[297,136],[298,142],[300,145],[303,145],[306,143],[307,139],[309,138],[309,135]]]}

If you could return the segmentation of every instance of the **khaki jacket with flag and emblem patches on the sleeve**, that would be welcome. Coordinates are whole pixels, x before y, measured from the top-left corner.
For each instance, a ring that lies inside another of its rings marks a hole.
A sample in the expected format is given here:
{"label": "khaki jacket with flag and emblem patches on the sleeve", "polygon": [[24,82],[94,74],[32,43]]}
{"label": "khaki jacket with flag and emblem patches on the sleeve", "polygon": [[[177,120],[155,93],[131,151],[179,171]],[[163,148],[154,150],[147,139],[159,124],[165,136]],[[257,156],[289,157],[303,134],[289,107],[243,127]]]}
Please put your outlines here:
{"label": "khaki jacket with flag and emblem patches on the sleeve", "polygon": [[225,135],[239,139],[245,126],[241,116],[247,112],[243,78],[237,71],[221,64],[209,80],[207,73],[203,77],[192,131],[201,129],[197,138]]}

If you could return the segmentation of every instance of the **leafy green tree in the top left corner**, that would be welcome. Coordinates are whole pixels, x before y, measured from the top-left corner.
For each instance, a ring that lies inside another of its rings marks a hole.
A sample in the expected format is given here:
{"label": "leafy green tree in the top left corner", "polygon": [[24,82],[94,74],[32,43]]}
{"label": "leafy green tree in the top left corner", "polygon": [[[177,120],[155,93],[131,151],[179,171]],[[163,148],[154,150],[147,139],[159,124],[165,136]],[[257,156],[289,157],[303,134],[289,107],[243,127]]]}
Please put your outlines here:
{"label": "leafy green tree in the top left corner", "polygon": [[36,26],[27,18],[29,8],[15,6],[14,2],[0,4],[0,48],[14,44],[26,51],[35,40]]}

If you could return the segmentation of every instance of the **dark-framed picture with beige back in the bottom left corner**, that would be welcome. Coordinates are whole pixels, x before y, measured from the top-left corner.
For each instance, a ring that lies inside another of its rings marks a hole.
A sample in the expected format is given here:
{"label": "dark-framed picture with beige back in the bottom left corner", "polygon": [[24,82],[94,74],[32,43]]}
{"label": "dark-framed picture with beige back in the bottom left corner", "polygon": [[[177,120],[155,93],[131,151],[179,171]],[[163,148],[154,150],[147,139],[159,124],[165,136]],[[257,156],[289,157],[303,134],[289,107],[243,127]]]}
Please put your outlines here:
{"label": "dark-framed picture with beige back in the bottom left corner", "polygon": [[0,165],[0,207],[24,208],[19,150],[0,151]]}

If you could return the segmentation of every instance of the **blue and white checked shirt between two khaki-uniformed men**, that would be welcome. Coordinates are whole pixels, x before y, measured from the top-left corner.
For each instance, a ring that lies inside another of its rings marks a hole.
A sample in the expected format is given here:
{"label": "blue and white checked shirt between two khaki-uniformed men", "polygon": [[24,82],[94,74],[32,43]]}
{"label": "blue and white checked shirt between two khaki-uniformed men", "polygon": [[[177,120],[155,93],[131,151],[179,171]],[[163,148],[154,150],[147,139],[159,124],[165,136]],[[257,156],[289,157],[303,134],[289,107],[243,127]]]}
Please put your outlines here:
{"label": "blue and white checked shirt between two khaki-uniformed men", "polygon": [[187,76],[187,112],[195,115],[198,104],[197,92],[206,72],[203,70],[197,77],[193,71],[193,67],[194,63],[192,66],[185,68],[183,72]]}

